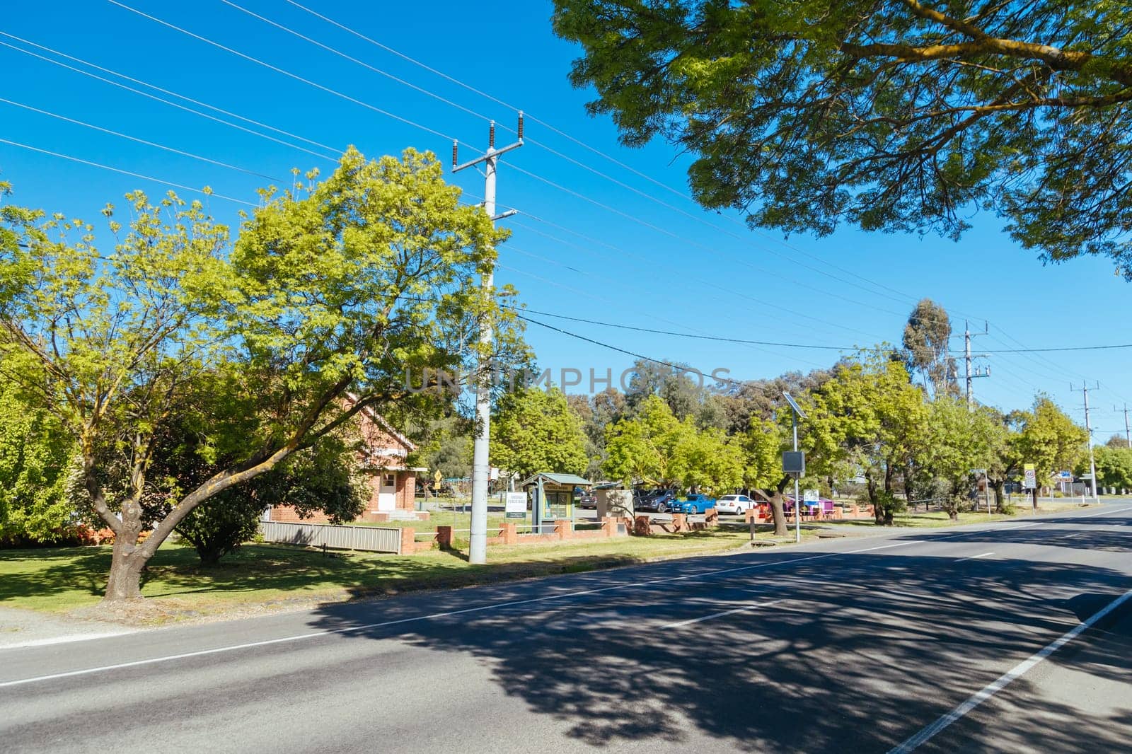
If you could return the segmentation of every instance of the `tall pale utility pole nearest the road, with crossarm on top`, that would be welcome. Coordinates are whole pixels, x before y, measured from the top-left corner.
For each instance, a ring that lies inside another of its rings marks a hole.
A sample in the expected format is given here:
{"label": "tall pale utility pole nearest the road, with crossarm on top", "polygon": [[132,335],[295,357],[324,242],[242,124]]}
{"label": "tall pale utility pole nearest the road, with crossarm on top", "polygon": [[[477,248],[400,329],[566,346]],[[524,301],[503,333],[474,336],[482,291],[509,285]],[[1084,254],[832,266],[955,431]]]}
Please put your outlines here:
{"label": "tall pale utility pole nearest the road, with crossarm on top", "polygon": [[[457,164],[458,142],[452,143],[452,172],[473,168],[483,163],[483,211],[491,222],[516,214],[514,209],[497,215],[495,213],[496,166],[499,155],[523,146],[523,113],[518,113],[518,140],[505,147],[495,146],[495,121],[488,127],[488,151],[480,157],[463,164]],[[495,271],[488,267],[480,277],[486,295],[495,295]],[[472,446],[472,523],[471,546],[468,562],[483,564],[488,559],[488,479],[491,462],[488,459],[488,447],[491,440],[491,357],[488,351],[495,337],[490,316],[480,317],[480,353],[475,362],[475,440]]]}

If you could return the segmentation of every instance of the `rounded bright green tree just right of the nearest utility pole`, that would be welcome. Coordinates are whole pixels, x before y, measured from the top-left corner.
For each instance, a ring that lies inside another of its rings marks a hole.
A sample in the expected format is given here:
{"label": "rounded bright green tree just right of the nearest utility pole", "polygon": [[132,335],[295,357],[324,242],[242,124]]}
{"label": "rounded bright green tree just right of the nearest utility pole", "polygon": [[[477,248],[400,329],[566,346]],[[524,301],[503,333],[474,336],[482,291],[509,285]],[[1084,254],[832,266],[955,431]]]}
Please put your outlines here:
{"label": "rounded bright green tree just right of the nearest utility pole", "polygon": [[530,477],[541,471],[585,473],[582,421],[557,387],[528,387],[505,394],[491,421],[492,464]]}

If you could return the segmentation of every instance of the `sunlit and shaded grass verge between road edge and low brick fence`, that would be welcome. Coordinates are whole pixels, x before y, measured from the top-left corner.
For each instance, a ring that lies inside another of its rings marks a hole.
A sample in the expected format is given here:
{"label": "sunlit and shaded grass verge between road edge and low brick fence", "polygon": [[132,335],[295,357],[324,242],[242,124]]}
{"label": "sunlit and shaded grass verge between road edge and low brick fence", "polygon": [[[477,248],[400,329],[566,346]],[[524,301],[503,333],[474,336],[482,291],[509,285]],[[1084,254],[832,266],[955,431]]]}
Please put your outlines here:
{"label": "sunlit and shaded grass verge between road edge and low brick fence", "polygon": [[[245,615],[423,589],[492,583],[559,573],[722,551],[743,545],[745,533],[691,532],[616,538],[565,545],[547,542],[488,549],[488,565],[473,566],[466,549],[413,556],[320,551],[283,545],[245,545],[216,567],[203,567],[196,551],[163,546],[146,568],[142,593],[152,608],[144,622],[168,623],[216,615]],[[110,568],[109,547],[0,551],[0,603],[68,612],[96,606]]]}

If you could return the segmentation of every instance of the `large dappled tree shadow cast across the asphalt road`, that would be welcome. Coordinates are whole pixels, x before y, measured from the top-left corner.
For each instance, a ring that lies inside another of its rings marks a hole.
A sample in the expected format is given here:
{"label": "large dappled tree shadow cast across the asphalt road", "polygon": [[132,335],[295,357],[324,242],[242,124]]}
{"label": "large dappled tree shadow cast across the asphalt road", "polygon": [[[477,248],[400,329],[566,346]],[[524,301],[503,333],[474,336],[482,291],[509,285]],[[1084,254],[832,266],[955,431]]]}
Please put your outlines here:
{"label": "large dappled tree shadow cast across the asphalt road", "polygon": [[[317,626],[477,658],[517,703],[595,747],[706,736],[741,751],[883,752],[1129,581],[1021,559],[762,555],[464,590],[443,605],[327,606]],[[530,601],[540,594],[552,599]],[[413,610],[448,615],[360,627]],[[672,625],[729,610],[739,611]],[[1118,665],[1091,671],[1126,679]],[[1123,713],[1080,725],[1077,711],[1046,706],[1044,717],[1073,730],[1049,751],[1117,751],[1132,735]]]}

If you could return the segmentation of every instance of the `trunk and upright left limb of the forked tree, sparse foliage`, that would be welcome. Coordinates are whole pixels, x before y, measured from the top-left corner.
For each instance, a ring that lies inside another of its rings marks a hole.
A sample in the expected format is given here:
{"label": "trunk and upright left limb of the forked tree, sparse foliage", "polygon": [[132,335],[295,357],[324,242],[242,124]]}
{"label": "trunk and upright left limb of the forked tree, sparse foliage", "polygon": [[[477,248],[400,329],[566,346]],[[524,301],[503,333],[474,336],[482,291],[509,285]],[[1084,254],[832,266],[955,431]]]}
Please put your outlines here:
{"label": "trunk and upright left limb of the forked tree, sparse foliage", "polygon": [[[103,211],[110,250],[84,221],[0,207],[3,368],[78,449],[88,504],[115,534],[111,598],[138,594],[164,539],[138,541],[153,434],[218,341],[208,315],[228,279],[228,229],[201,203],[127,198],[128,228]],[[113,495],[111,464],[126,480]]]}

